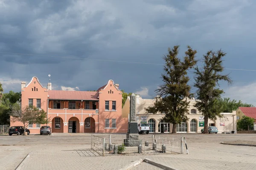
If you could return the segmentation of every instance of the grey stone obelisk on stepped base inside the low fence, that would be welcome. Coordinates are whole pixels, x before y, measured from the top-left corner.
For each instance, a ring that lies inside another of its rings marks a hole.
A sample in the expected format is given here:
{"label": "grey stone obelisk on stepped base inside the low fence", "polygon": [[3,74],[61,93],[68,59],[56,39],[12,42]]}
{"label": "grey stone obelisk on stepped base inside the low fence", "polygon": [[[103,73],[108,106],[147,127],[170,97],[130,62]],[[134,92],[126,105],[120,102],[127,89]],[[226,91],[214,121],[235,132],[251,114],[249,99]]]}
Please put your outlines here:
{"label": "grey stone obelisk on stepped base inside the low fence", "polygon": [[130,96],[130,121],[128,124],[128,133],[124,139],[125,146],[139,146],[142,140],[139,139],[138,123],[136,121],[136,95]]}

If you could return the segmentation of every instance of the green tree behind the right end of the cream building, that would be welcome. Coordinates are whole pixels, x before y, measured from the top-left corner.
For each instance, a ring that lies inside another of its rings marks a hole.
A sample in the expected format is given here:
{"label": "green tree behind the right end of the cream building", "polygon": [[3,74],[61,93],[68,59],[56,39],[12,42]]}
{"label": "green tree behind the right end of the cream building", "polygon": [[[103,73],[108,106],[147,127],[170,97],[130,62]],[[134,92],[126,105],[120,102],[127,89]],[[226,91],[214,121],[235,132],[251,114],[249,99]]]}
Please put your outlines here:
{"label": "green tree behind the right end of the cream building", "polygon": [[232,111],[236,111],[239,107],[254,107],[252,104],[243,103],[241,100],[231,100],[230,98],[219,98],[218,102],[223,113],[232,113]]}

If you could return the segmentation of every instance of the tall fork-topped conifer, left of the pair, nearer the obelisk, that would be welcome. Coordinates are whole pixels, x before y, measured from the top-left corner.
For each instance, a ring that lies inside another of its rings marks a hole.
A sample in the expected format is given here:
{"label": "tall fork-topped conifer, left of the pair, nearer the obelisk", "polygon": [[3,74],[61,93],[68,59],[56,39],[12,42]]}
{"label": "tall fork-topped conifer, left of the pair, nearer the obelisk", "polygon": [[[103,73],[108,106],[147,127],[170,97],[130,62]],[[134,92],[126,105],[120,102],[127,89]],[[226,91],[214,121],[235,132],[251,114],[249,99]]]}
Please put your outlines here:
{"label": "tall fork-topped conifer, left of the pair, nearer the obelisk", "polygon": [[188,85],[189,77],[187,71],[196,64],[195,54],[197,51],[187,46],[185,57],[181,60],[178,57],[179,45],[172,49],[168,48],[168,54],[164,55],[164,71],[162,74],[163,85],[155,91],[157,100],[153,106],[145,108],[147,113],[157,113],[165,111],[163,119],[172,123],[172,133],[176,133],[176,125],[183,120],[187,120],[188,105],[186,98],[192,97],[191,87]]}

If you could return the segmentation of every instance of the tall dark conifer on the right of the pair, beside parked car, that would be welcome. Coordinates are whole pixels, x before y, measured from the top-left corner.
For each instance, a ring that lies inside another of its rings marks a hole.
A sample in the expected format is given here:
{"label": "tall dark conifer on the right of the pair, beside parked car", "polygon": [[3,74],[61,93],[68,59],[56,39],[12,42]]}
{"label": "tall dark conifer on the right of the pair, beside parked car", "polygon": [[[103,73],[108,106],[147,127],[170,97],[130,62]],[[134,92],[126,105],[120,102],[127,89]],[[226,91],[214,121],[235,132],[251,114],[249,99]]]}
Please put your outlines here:
{"label": "tall dark conifer on the right of the pair, beside parked car", "polygon": [[222,75],[224,67],[222,66],[223,57],[226,55],[221,50],[208,51],[204,55],[204,67],[195,68],[195,84],[197,88],[198,101],[195,107],[204,115],[204,133],[208,133],[208,119],[217,119],[221,117],[221,104],[218,102],[223,90],[216,88],[220,81],[232,84],[229,74]]}

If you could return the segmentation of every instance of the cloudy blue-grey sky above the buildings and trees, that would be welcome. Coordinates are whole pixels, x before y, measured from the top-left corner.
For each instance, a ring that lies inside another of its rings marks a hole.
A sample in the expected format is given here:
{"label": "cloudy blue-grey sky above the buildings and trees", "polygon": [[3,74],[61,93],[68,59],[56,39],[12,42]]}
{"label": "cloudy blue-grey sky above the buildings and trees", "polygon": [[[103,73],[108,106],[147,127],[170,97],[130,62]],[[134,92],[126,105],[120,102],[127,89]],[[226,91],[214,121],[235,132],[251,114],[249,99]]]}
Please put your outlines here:
{"label": "cloudy blue-grey sky above the buildings and trees", "polygon": [[[129,62],[163,64],[174,45],[180,57],[190,45],[198,59],[222,48],[225,68],[256,70],[255,8],[255,0],[0,0],[0,52],[19,53],[0,53],[0,82],[18,92],[21,81],[46,86],[51,74],[55,90],[87,91],[113,79],[151,98],[163,65]],[[221,83],[224,96],[256,105],[256,71],[224,73],[234,81]]]}

